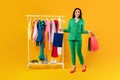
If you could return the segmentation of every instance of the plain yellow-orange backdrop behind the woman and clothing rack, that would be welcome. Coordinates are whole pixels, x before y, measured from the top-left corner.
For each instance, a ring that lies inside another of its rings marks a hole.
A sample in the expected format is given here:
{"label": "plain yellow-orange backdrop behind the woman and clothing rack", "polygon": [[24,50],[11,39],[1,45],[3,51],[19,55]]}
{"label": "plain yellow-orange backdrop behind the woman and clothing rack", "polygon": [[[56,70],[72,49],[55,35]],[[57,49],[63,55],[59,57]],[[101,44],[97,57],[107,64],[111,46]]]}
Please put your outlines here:
{"label": "plain yellow-orange backdrop behind the woman and clothing rack", "polygon": [[[119,0],[2,0],[0,1],[0,78],[1,80],[120,80],[120,9]],[[67,22],[74,8],[82,9],[85,29],[97,36],[100,49],[87,51],[83,35],[83,55],[87,72],[70,74],[71,60],[68,34],[65,33],[65,70],[26,70],[27,19],[26,14],[64,15]]]}

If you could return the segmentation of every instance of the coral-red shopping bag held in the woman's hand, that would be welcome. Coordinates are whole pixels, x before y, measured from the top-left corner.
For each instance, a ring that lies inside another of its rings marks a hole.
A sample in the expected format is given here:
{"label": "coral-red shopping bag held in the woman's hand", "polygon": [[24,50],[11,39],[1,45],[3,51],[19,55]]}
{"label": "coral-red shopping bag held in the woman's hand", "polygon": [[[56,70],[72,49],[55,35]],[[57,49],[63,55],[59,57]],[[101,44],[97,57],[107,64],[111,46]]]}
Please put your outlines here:
{"label": "coral-red shopping bag held in the woman's hand", "polygon": [[90,51],[97,51],[99,49],[98,40],[96,36],[90,37]]}

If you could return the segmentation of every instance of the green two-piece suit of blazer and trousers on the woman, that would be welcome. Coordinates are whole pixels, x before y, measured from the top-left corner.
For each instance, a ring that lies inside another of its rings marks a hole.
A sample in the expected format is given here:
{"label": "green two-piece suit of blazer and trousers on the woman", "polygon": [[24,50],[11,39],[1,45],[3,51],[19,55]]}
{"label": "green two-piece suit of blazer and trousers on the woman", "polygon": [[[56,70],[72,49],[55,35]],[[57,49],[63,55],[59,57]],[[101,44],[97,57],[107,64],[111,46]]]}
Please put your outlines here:
{"label": "green two-piece suit of blazer and trousers on the woman", "polygon": [[64,29],[64,32],[69,32],[68,40],[70,44],[72,64],[76,64],[75,48],[77,51],[78,58],[80,60],[80,64],[84,64],[84,59],[81,52],[81,34],[88,34],[88,31],[84,30],[84,21],[82,19],[78,19],[78,21],[76,22],[74,18],[70,19],[68,23],[68,28]]}

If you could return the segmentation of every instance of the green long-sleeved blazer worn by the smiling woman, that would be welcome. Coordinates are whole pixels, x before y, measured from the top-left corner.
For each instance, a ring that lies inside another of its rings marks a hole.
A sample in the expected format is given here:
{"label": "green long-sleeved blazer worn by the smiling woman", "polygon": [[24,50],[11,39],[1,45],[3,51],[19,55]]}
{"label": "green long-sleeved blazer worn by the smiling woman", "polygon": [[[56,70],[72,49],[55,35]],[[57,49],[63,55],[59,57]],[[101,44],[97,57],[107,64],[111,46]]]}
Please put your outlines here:
{"label": "green long-sleeved blazer worn by the smiling woman", "polygon": [[68,28],[64,29],[64,32],[69,32],[68,40],[81,40],[81,34],[88,34],[88,31],[84,30],[84,21],[79,19],[77,22],[75,18],[69,20]]}

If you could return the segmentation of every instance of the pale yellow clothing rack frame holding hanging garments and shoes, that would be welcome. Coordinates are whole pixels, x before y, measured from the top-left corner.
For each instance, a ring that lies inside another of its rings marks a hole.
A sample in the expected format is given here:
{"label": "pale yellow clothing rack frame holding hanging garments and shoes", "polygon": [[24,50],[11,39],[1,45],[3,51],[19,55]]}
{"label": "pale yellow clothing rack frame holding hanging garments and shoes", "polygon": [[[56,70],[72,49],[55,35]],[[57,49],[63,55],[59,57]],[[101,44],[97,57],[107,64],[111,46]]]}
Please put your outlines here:
{"label": "pale yellow clothing rack frame holding hanging garments and shoes", "polygon": [[[62,68],[64,69],[64,39],[63,39],[63,46],[62,46],[62,62],[56,63],[56,64],[41,64],[41,63],[31,63],[30,62],[30,29],[31,29],[31,25],[30,25],[30,21],[31,18],[61,18],[61,20],[65,17],[65,16],[56,16],[56,15],[26,15],[27,20],[28,20],[28,63],[27,63],[27,70],[30,68],[31,65],[62,65]],[[65,23],[64,20],[62,20],[62,23]]]}

